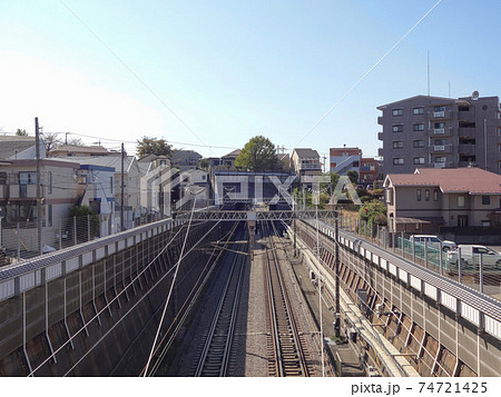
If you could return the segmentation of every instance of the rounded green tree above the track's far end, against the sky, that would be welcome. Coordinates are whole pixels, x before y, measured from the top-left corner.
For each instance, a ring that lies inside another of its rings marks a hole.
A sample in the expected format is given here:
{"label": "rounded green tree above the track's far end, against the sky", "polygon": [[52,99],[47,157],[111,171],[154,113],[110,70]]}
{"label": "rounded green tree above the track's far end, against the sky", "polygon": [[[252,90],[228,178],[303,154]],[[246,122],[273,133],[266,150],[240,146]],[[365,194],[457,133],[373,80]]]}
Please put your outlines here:
{"label": "rounded green tree above the track's far end, against the sky", "polygon": [[249,171],[273,170],[278,166],[275,145],[268,138],[252,138],[235,159],[235,166]]}

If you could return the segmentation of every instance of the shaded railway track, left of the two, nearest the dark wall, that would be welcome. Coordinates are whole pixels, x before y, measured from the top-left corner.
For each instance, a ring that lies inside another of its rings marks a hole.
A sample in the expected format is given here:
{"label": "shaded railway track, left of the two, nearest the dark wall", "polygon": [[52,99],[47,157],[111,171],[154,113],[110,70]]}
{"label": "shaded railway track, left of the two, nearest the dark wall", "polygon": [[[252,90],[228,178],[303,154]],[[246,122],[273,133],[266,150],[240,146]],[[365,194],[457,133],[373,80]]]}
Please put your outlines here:
{"label": "shaded railway track, left of the two, nearest the dark wall", "polygon": [[[236,251],[242,251],[245,247],[246,245],[239,244]],[[245,255],[234,254],[228,277],[199,353],[194,374],[197,377],[227,375],[245,262]]]}

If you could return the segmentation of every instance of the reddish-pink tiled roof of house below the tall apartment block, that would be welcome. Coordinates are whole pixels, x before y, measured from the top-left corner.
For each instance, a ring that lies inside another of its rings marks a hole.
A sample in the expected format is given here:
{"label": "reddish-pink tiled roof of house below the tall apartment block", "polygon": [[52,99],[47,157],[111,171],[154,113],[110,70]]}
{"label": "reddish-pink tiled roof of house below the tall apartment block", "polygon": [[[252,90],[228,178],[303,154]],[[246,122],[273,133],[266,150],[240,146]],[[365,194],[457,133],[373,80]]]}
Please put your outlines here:
{"label": "reddish-pink tiled roof of house below the tall apartment block", "polygon": [[419,168],[415,173],[390,173],[393,186],[436,186],[443,192],[501,195],[501,175],[480,168]]}

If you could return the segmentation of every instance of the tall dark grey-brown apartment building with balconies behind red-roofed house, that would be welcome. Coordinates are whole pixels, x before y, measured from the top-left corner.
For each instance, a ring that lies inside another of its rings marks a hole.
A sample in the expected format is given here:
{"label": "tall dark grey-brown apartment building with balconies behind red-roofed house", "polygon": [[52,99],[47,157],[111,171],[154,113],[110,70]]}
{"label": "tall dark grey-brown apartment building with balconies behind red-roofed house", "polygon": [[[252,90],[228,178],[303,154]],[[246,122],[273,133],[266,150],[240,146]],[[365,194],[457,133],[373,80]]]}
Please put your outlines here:
{"label": "tall dark grey-brown apartment building with balconies behind red-roofed house", "polygon": [[459,167],[501,173],[499,97],[416,96],[377,109],[384,175]]}

